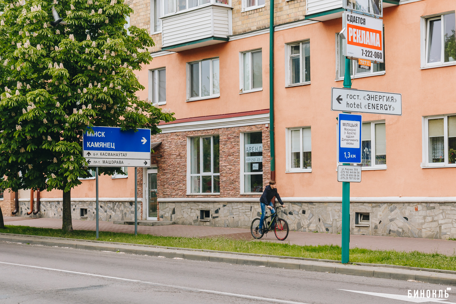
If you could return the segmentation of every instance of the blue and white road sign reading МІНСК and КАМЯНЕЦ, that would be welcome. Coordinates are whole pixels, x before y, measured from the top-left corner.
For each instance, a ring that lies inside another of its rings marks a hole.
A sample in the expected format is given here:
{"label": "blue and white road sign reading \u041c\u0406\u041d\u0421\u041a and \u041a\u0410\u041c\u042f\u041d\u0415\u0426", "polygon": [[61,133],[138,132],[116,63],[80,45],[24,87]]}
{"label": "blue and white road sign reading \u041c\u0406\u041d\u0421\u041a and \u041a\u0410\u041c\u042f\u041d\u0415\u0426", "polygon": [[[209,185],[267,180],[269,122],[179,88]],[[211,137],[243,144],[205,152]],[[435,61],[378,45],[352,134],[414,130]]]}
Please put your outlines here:
{"label": "blue and white road sign reading \u041c\u0406\u041d\u0421\u041a and \u041a\u0410\u041c\u042f\u041d\u0415\u0426", "polygon": [[149,167],[150,129],[92,127],[84,132],[83,156],[92,167]]}

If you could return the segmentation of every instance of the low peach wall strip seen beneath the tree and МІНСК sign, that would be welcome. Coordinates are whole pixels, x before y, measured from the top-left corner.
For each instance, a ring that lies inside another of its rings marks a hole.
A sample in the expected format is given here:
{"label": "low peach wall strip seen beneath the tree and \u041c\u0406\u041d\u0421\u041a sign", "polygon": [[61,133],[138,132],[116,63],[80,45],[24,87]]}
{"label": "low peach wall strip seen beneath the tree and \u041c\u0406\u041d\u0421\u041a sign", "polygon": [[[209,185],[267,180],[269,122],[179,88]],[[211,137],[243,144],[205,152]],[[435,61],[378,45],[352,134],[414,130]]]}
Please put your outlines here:
{"label": "low peach wall strip seen beneath the tree and \u041c\u0406\u041d\u0421\u041a sign", "polygon": [[[95,197],[95,179],[81,181],[81,185],[71,190],[71,197]],[[111,178],[108,175],[100,175],[98,177],[98,191],[99,197],[135,197],[135,168],[128,168],[127,178]],[[63,192],[60,190],[41,191],[40,193],[42,198],[62,197],[62,194]]]}

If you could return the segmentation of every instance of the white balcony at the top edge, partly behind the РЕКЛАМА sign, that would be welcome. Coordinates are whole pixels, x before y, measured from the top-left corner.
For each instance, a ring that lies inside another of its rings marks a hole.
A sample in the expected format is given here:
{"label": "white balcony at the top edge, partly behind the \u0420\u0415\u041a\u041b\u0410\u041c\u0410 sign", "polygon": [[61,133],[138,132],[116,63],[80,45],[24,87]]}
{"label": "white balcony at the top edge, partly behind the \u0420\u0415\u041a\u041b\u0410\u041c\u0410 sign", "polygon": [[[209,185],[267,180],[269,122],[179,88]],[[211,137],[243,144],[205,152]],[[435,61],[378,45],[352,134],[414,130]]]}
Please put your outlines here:
{"label": "white balcony at the top edge, partly behind the \u0420\u0415\u041a\u041b\u0410\u041c\u0410 sign", "polygon": [[[307,0],[306,20],[326,21],[342,18],[343,1],[352,0]],[[369,0],[358,0],[358,2],[368,3]],[[383,8],[399,5],[399,0],[383,0]]]}

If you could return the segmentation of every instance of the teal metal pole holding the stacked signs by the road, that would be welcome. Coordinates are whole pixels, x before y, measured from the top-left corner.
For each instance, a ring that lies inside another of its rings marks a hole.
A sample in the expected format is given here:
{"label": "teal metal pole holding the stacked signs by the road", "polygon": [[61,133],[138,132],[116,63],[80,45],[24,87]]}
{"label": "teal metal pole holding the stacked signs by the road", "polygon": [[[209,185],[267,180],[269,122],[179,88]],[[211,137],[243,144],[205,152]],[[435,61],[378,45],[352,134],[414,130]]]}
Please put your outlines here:
{"label": "teal metal pole holding the stacked signs by the road", "polygon": [[[345,57],[344,88],[352,88],[350,65],[352,61]],[[343,164],[350,165],[350,164]],[[342,264],[350,260],[350,183],[342,182]]]}

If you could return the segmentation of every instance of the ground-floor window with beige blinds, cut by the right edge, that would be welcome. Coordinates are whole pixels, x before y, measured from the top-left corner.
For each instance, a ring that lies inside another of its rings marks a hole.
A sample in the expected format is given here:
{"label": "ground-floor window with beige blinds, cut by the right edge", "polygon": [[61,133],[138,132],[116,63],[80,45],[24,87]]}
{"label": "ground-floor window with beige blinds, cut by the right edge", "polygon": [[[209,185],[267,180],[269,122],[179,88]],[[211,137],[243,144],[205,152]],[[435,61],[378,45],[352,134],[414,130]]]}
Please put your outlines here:
{"label": "ground-floor window with beige blinds, cut by the right edge", "polygon": [[456,166],[456,115],[425,118],[425,166]]}

